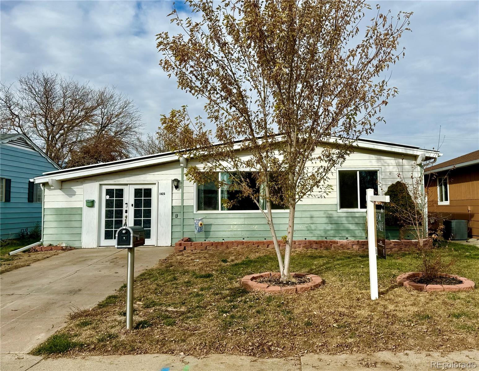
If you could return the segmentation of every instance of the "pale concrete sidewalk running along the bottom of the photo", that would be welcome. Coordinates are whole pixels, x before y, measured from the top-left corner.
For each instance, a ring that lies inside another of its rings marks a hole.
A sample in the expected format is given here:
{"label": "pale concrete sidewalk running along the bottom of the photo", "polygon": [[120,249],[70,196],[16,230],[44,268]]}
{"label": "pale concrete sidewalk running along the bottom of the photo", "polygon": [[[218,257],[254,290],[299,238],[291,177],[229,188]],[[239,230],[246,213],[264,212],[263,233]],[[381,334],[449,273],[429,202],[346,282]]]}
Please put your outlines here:
{"label": "pale concrete sidewalk running along the bottom of the photo", "polygon": [[[94,356],[78,358],[41,359],[24,355],[17,360],[11,355],[2,362],[2,370],[19,371],[424,371],[479,369],[477,350],[451,352],[414,351],[373,354],[308,354],[286,359],[259,359],[247,356],[212,354],[203,358],[168,354],[127,356]],[[432,362],[436,362],[435,364]],[[438,362],[443,362],[439,364]],[[447,366],[446,362],[450,362]],[[466,368],[454,367],[464,363]],[[475,365],[475,367],[474,367]],[[15,368],[11,368],[15,366]]]}

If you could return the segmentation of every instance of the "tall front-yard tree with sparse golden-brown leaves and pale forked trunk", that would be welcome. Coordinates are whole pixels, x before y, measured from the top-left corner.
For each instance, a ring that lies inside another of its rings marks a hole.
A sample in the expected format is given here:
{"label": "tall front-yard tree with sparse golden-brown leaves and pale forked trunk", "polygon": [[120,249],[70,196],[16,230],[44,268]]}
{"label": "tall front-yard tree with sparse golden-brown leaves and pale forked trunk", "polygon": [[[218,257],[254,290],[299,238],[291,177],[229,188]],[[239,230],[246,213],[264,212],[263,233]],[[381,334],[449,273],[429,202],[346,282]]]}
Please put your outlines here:
{"label": "tall front-yard tree with sparse golden-brown leaves and pale forked trunk", "polygon": [[[157,35],[160,66],[181,89],[206,98],[216,129],[185,107],[162,117],[161,129],[180,138],[172,143],[180,155],[200,162],[188,168],[188,179],[201,183],[225,172],[217,186],[254,201],[282,279],[289,279],[296,204],[328,192],[333,167],[384,121],[381,107],[398,90],[380,75],[404,55],[397,48],[411,13],[393,18],[377,6],[361,39],[359,24],[370,9],[362,0],[187,2],[194,18],[170,14],[181,33]],[[289,209],[284,256],[273,204]]]}

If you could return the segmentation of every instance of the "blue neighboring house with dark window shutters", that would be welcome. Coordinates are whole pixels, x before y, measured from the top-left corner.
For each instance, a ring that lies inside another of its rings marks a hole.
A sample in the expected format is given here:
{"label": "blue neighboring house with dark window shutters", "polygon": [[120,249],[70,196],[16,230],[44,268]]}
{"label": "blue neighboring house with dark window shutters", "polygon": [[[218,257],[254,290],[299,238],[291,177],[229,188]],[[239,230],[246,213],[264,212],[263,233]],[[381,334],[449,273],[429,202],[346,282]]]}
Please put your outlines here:
{"label": "blue neighboring house with dark window shutters", "polygon": [[0,238],[17,238],[42,222],[42,188],[31,181],[59,170],[24,134],[0,134]]}

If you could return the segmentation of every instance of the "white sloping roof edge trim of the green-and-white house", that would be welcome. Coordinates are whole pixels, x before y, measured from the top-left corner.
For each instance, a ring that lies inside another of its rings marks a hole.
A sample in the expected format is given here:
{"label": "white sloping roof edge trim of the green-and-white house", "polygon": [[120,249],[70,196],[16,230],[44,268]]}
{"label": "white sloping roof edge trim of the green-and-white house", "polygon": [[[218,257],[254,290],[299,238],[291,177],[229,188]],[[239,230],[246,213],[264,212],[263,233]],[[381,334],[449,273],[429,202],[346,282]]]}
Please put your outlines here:
{"label": "white sloping roof edge trim of the green-and-white house", "polygon": [[[241,140],[235,142],[235,146],[237,149],[240,149],[241,142]],[[219,145],[221,143],[217,144]],[[424,155],[424,159],[433,159],[442,155],[442,153],[439,153],[435,150],[424,150],[420,149],[419,147],[413,147],[410,145],[381,142],[371,139],[359,139],[354,143],[354,146],[358,148],[374,149],[381,152],[399,153],[412,156]],[[147,156],[128,158],[108,163],[79,166],[70,169],[63,169],[44,173],[41,176],[35,177],[35,183],[47,183],[52,179],[61,182],[69,179],[77,179],[86,176],[112,173],[156,164],[165,164],[174,161],[178,161],[178,155],[173,152],[150,154]]]}

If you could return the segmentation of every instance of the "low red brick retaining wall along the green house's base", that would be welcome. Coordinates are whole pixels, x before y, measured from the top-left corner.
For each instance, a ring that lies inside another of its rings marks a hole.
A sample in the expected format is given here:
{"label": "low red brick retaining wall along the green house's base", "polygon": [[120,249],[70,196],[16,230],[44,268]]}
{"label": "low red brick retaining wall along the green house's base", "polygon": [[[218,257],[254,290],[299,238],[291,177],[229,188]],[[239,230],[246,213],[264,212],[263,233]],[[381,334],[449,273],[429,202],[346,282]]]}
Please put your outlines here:
{"label": "low red brick retaining wall along the green house's base", "polygon": [[[388,252],[410,251],[417,249],[418,240],[386,240],[386,248]],[[432,241],[427,240],[426,246],[432,246]],[[235,247],[248,248],[274,248],[272,240],[263,241],[203,241],[194,242],[189,238],[183,238],[175,243],[175,252],[191,251],[191,250],[220,250]],[[280,243],[280,247],[285,247],[284,243]],[[294,240],[293,248],[295,249],[315,249],[315,250],[350,250],[350,251],[367,251],[367,240]]]}

